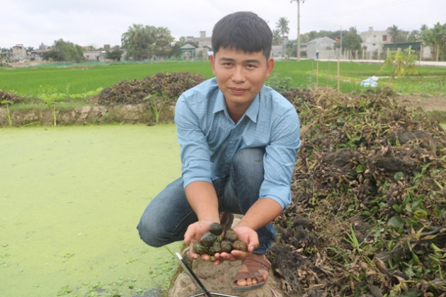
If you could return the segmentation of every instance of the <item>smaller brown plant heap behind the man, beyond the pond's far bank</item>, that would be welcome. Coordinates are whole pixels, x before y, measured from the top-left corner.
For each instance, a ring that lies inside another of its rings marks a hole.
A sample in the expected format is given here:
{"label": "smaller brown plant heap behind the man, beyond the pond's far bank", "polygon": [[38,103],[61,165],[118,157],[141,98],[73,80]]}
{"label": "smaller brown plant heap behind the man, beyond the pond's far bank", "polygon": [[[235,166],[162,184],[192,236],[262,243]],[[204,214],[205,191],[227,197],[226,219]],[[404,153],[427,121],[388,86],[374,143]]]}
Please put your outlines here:
{"label": "smaller brown plant heap behind the man, beyond the pond's far bank", "polygon": [[187,71],[171,74],[159,72],[143,79],[119,81],[110,88],[104,88],[97,100],[101,105],[150,104],[153,101],[147,96],[152,95],[156,96],[156,100],[174,105],[181,93],[202,81],[205,81],[204,76]]}

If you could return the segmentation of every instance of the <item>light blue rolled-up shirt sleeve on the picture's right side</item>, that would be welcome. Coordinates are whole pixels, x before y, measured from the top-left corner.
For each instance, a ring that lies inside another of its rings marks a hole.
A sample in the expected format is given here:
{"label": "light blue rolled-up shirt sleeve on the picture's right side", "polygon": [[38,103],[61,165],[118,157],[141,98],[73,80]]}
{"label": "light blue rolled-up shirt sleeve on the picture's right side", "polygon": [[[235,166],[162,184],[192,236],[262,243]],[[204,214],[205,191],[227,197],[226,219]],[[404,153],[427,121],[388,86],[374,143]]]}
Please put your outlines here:
{"label": "light blue rolled-up shirt sleeve on the picture's right side", "polygon": [[291,203],[290,183],[300,146],[299,117],[294,108],[276,119],[270,144],[265,147],[265,176],[260,198],[268,197],[278,202],[282,209]]}

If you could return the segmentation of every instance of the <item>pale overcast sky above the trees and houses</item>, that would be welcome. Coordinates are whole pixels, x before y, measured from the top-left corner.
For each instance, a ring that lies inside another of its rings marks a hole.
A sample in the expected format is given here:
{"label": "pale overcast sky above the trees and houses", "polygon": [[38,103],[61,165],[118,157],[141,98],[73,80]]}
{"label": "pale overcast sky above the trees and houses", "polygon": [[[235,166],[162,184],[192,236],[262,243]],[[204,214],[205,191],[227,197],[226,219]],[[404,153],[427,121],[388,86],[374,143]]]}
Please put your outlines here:
{"label": "pale overcast sky above the trees and houses", "polygon": [[[297,36],[297,2],[290,0],[0,0],[0,47],[23,44],[37,48],[55,40],[102,47],[120,45],[134,24],[154,25],[181,36],[212,33],[215,22],[235,11],[253,11],[274,29],[281,17],[290,21],[290,39]],[[432,28],[446,23],[445,0],[305,0],[300,4],[300,32],[373,27],[385,30]]]}

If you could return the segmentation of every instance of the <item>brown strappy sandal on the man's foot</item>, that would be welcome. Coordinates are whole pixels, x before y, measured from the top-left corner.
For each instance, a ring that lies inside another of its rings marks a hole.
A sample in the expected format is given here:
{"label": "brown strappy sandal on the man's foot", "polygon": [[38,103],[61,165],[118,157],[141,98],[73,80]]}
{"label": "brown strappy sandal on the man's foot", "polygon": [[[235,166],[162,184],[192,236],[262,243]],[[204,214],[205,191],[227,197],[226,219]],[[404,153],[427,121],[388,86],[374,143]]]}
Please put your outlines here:
{"label": "brown strappy sandal on the man's foot", "polygon": [[[259,271],[266,270],[269,272],[271,263],[265,259],[264,255],[252,254],[251,256],[246,257],[244,260],[241,260],[241,264],[246,265],[248,272],[238,272],[236,274],[231,285],[234,291],[248,291],[259,288],[266,283],[268,275],[263,278],[263,274],[261,274]],[[253,284],[251,286],[238,286],[237,281],[239,281],[239,279],[257,279],[257,284]]]}

